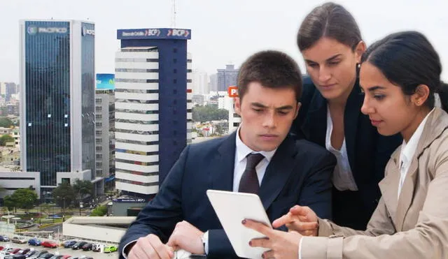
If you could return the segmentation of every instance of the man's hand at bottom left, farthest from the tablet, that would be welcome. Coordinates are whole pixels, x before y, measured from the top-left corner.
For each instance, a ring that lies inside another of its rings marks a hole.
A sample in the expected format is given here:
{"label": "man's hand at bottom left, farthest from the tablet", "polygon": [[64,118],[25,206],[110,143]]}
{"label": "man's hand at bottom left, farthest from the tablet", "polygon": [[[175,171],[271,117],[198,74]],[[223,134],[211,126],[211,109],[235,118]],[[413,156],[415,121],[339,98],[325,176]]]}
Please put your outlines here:
{"label": "man's hand at bottom left, farthest from the tablet", "polygon": [[128,259],[172,259],[174,249],[163,244],[160,238],[150,234],[140,237],[127,254]]}

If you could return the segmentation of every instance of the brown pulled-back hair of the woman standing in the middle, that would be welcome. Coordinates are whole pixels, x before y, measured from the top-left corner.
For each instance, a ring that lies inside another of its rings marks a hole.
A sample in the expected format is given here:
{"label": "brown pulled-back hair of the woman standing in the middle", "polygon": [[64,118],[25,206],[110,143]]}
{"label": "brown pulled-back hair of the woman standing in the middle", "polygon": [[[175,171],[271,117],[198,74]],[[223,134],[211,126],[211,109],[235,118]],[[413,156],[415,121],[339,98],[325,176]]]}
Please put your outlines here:
{"label": "brown pulled-back hair of the woman standing in the middle", "polygon": [[328,37],[355,50],[362,40],[355,18],[337,3],[324,3],[305,17],[297,34],[299,50],[307,50],[318,40]]}

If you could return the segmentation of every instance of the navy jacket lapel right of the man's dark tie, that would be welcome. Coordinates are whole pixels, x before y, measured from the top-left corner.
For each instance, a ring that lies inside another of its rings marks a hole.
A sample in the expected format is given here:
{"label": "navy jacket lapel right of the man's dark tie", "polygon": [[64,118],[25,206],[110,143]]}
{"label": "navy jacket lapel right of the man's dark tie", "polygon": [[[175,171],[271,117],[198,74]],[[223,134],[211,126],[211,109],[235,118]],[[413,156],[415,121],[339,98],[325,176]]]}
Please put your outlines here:
{"label": "navy jacket lapel right of the man's dark tie", "polygon": [[269,165],[267,165],[258,193],[266,210],[279,195],[283,186],[286,185],[291,172],[295,168],[295,154],[297,154],[295,140],[287,136],[275,152]]}

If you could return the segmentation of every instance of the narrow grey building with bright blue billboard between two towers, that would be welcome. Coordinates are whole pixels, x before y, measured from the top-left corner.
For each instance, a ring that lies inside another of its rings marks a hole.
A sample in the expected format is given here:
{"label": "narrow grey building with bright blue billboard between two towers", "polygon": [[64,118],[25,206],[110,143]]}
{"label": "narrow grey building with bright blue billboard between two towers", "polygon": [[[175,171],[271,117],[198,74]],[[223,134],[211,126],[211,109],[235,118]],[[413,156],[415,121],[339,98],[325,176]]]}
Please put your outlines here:
{"label": "narrow grey building with bright blue billboard between two towers", "polygon": [[114,74],[97,74],[95,89],[96,177],[113,185],[115,175],[115,83]]}

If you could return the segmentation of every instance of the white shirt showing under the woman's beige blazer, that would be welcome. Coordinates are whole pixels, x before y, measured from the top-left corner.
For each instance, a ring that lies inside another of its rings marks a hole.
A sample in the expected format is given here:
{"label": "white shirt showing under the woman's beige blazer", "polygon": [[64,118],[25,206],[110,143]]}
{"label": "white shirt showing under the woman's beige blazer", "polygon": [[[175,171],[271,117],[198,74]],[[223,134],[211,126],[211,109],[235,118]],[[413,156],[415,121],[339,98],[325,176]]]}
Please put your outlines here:
{"label": "white shirt showing under the woman's beige blazer", "polygon": [[[434,109],[433,109],[434,110]],[[412,134],[411,138],[409,138],[409,142],[406,143],[403,140],[400,151],[400,182],[398,182],[398,198],[400,198],[401,188],[403,183],[405,182],[407,171],[409,171],[409,166],[411,166],[412,157],[415,154],[417,149],[417,145],[419,145],[419,140],[421,137],[421,133],[423,133],[423,128],[425,127],[426,120],[428,119],[429,114],[433,112],[431,110],[428,115],[426,115],[425,119],[421,121],[419,127],[415,130],[414,134]]]}

